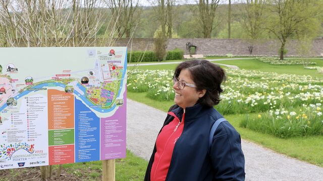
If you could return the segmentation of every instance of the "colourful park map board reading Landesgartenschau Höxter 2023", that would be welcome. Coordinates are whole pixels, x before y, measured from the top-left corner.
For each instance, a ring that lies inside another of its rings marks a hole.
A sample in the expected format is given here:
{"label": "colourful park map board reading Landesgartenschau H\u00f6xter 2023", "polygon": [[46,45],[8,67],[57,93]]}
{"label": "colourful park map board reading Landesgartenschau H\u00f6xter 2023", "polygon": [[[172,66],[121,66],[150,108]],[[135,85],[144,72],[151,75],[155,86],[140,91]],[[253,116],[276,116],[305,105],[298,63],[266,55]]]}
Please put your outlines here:
{"label": "colourful park map board reading Landesgartenschau H\u00f6xter 2023", "polygon": [[0,55],[0,169],[125,156],[125,47]]}

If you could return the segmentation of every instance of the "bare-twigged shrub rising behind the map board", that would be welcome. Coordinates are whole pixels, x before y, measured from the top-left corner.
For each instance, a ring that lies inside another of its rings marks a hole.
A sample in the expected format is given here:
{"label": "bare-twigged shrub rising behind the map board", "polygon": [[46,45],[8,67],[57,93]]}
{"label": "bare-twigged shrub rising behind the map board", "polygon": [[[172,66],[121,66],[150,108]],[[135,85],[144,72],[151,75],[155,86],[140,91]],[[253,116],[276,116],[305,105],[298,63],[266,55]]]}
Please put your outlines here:
{"label": "bare-twigged shrub rising behind the map board", "polygon": [[[100,40],[96,36],[109,18],[101,5],[100,0],[0,0],[0,47],[113,46],[114,25],[106,26]],[[52,176],[52,165],[40,170],[42,179]]]}

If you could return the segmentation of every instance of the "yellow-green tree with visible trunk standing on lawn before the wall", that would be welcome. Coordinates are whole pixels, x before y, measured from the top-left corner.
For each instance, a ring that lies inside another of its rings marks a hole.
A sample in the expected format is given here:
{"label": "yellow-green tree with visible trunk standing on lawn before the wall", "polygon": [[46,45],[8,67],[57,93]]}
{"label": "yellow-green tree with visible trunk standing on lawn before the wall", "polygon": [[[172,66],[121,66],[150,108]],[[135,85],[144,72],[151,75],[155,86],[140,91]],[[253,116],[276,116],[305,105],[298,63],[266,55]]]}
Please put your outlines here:
{"label": "yellow-green tree with visible trunk standing on lawn before the wall", "polygon": [[315,34],[319,15],[318,1],[314,0],[273,0],[267,29],[281,42],[280,59],[284,59],[284,50],[288,38]]}

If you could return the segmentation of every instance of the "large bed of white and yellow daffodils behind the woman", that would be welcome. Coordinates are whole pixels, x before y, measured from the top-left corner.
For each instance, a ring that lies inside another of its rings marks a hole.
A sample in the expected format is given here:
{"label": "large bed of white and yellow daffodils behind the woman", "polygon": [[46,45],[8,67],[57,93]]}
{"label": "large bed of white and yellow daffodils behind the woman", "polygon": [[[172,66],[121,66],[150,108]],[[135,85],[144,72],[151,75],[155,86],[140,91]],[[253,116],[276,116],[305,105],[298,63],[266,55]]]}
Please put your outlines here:
{"label": "large bed of white and yellow daffodils behind the woman", "polygon": [[[226,69],[221,114],[246,114],[241,126],[278,137],[323,134],[323,78]],[[134,70],[128,91],[173,101],[173,70]],[[252,113],[252,114],[251,114]]]}

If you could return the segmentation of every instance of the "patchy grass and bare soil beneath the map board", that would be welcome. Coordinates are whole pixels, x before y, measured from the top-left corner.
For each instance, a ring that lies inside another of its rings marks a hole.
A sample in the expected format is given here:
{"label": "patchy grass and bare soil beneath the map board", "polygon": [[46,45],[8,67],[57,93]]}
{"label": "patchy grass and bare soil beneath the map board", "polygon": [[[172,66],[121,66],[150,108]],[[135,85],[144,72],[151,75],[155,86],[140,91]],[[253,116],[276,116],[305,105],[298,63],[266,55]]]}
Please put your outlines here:
{"label": "patchy grass and bare soil beneath the map board", "polygon": [[[116,159],[116,181],[141,181],[148,162],[127,150],[126,158]],[[49,180],[102,180],[102,161],[64,164],[62,176],[55,179],[58,165],[53,165]],[[40,180],[38,167],[0,170],[0,181]]]}

